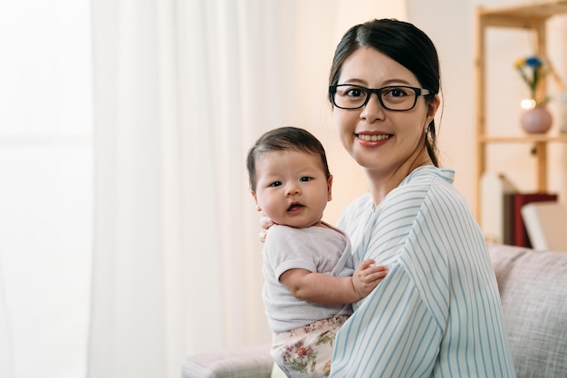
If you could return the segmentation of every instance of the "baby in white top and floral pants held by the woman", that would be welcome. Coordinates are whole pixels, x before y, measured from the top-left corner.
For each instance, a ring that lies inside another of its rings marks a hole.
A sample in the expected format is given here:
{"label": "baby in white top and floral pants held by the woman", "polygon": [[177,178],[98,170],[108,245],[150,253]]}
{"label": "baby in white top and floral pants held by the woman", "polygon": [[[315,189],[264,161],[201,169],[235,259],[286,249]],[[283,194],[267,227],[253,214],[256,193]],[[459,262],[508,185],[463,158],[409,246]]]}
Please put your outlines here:
{"label": "baby in white top and floral pants held by the woman", "polygon": [[351,304],[367,296],[387,268],[369,259],[355,270],[349,238],[322,221],[332,175],[310,132],[266,132],[248,152],[247,168],[256,209],[274,221],[263,267],[272,356],[290,377],[328,376],[334,337]]}

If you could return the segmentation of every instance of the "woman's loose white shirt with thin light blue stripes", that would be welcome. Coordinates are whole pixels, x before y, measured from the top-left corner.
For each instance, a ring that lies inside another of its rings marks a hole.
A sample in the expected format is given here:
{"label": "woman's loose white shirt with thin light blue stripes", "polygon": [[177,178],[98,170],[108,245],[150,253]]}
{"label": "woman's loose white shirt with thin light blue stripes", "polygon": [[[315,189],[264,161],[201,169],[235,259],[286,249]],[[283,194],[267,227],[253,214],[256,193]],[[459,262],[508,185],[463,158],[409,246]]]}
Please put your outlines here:
{"label": "woman's loose white shirt with thin light blue stripes", "polygon": [[337,334],[332,377],[515,377],[485,240],[453,178],[420,167],[377,208],[367,194],[342,214],[354,266],[389,274]]}

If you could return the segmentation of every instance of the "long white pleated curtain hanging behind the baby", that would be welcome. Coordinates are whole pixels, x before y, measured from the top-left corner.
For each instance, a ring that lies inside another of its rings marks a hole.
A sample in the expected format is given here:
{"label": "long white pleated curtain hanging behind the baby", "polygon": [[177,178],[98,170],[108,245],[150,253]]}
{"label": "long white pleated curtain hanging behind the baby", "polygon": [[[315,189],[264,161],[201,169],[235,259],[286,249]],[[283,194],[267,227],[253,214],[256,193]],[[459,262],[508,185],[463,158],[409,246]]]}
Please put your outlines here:
{"label": "long white pleated curtain hanging behind the baby", "polygon": [[245,153],[285,124],[335,148],[327,70],[347,26],[403,8],[375,3],[93,2],[91,378],[270,340]]}

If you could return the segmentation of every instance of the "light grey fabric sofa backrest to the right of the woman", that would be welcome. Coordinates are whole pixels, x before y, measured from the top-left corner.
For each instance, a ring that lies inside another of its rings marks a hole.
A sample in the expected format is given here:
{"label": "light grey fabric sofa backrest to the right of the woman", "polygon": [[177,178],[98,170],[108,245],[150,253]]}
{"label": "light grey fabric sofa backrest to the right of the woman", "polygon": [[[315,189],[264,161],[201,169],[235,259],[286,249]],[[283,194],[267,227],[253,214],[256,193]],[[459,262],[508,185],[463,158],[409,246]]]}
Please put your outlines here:
{"label": "light grey fabric sofa backrest to the right of the woman", "polygon": [[488,250],[517,377],[567,377],[567,252]]}

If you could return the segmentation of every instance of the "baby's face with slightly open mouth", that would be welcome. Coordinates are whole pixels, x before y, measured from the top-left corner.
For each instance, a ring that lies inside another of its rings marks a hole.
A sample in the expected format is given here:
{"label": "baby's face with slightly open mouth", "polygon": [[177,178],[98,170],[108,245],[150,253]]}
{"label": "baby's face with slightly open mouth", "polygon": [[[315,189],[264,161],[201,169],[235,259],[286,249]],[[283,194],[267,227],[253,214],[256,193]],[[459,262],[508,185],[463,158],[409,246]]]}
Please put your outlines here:
{"label": "baby's face with slightly open mouth", "polygon": [[265,152],[256,163],[255,198],[258,211],[275,223],[294,228],[318,225],[331,200],[321,157],[293,150]]}

